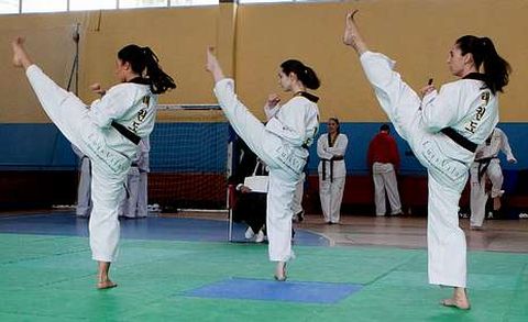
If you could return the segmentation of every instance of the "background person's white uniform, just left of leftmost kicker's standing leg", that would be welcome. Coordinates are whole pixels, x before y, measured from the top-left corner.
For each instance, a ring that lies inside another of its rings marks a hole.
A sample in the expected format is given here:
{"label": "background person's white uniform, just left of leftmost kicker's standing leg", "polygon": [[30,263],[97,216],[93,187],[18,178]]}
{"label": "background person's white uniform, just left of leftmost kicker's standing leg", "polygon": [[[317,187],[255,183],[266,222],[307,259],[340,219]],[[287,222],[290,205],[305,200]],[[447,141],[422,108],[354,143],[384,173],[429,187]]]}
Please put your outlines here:
{"label": "background person's white uniform, just left of leftmost kicker's standing leg", "polygon": [[78,216],[90,216],[91,212],[91,163],[90,159],[72,144],[72,149],[80,159],[80,176],[77,187],[77,207],[75,213]]}

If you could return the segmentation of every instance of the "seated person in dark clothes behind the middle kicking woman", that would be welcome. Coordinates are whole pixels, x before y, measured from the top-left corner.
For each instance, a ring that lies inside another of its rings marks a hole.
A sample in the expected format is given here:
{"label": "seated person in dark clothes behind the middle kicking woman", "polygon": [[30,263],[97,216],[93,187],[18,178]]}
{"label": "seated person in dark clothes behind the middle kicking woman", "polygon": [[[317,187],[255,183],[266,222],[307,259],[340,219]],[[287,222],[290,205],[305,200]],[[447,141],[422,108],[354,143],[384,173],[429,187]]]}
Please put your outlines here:
{"label": "seated person in dark clothes behind the middle kicking woman", "polygon": [[254,192],[244,186],[244,179],[251,176],[267,176],[266,166],[256,155],[239,138],[234,147],[237,166],[229,184],[237,187],[237,203],[233,208],[233,221],[245,222],[248,230],[245,238],[255,236],[255,242],[262,243],[265,236],[266,198],[267,193]]}

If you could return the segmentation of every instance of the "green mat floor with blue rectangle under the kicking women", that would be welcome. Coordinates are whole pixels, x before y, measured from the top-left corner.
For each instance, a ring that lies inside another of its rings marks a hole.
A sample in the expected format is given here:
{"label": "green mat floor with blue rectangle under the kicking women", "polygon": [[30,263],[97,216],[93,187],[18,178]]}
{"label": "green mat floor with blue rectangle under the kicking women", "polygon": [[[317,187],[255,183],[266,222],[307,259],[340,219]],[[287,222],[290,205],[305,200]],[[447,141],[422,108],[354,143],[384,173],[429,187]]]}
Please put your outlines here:
{"label": "green mat floor with blue rectangle under the kicking women", "polygon": [[[528,321],[526,252],[470,251],[472,309],[459,311],[439,304],[451,289],[428,285],[422,248],[296,245],[276,282],[265,244],[122,238],[119,286],[97,290],[86,236],[2,222],[0,321]],[[323,286],[355,289],[326,302]]]}

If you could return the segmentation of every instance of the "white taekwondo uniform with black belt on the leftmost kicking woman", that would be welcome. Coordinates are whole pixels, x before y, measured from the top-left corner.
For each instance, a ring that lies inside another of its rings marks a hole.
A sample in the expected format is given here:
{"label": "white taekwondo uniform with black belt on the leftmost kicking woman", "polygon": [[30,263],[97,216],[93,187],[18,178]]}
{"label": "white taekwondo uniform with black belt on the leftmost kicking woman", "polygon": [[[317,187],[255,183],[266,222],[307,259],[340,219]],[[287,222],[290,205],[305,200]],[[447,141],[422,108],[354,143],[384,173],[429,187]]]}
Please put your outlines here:
{"label": "white taekwondo uniform with black belt on the leftmost kicking woman", "polygon": [[157,96],[136,78],[110,88],[87,107],[50,79],[36,65],[26,76],[44,111],[92,165],[90,247],[92,258],[114,262],[119,242],[119,204],[138,144],[155,122]]}

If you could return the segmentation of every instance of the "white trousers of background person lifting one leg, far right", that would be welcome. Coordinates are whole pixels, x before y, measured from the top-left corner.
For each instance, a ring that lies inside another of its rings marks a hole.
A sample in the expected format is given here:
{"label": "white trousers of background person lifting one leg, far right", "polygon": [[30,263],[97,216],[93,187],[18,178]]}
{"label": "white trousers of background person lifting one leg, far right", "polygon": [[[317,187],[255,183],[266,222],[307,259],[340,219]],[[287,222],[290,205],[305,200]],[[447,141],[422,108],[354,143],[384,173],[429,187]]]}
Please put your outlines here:
{"label": "white trousers of background person lifting one leg, far right", "polygon": [[492,181],[492,198],[501,197],[502,188],[503,188],[503,170],[501,169],[501,162],[498,158],[493,158],[490,160],[490,166],[487,167],[486,171],[482,176],[481,180],[479,180],[479,163],[473,163],[471,165],[470,174],[471,174],[471,199],[470,199],[470,208],[471,208],[471,219],[470,224],[471,226],[480,227],[482,226],[486,213],[486,202],[487,202],[487,193],[486,193],[486,180],[490,178]]}

